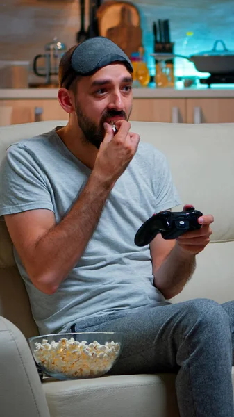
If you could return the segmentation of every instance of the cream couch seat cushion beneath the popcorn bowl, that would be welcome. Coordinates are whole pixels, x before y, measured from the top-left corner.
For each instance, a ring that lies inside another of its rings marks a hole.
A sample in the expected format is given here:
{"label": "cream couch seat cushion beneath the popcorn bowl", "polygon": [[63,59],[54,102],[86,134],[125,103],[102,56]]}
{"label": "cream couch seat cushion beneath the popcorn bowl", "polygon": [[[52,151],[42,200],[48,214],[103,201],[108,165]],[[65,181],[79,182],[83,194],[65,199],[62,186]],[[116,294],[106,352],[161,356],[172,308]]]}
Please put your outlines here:
{"label": "cream couch seat cushion beneath the popcorn bowl", "polygon": [[42,384],[51,417],[179,417],[176,375],[117,375]]}

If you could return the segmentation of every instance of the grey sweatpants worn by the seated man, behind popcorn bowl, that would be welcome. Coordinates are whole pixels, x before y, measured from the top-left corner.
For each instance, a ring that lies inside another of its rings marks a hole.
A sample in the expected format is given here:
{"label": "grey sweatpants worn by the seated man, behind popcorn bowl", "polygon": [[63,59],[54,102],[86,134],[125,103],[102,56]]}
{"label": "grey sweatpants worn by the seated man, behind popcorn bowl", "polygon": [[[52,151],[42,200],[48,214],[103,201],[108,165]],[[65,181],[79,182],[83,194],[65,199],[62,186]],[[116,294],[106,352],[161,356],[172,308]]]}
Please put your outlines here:
{"label": "grey sweatpants worn by the seated man, behind popcorn bowl", "polygon": [[175,372],[181,417],[234,417],[234,302],[196,299],[76,323],[76,332],[123,332],[110,373]]}

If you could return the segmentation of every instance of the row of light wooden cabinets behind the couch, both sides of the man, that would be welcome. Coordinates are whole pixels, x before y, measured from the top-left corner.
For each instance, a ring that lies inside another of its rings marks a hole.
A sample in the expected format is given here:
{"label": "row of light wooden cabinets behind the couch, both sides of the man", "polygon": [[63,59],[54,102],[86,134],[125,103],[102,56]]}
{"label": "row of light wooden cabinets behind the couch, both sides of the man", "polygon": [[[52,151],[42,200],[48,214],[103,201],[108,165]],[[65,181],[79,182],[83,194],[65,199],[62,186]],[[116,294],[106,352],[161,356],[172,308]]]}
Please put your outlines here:
{"label": "row of light wooden cabinets behind the couch, both sides of the man", "polygon": [[[8,115],[8,120],[4,114]],[[62,110],[56,98],[0,100],[1,126],[37,120],[68,120],[68,115]],[[131,120],[166,123],[230,123],[234,122],[234,98],[135,98]]]}

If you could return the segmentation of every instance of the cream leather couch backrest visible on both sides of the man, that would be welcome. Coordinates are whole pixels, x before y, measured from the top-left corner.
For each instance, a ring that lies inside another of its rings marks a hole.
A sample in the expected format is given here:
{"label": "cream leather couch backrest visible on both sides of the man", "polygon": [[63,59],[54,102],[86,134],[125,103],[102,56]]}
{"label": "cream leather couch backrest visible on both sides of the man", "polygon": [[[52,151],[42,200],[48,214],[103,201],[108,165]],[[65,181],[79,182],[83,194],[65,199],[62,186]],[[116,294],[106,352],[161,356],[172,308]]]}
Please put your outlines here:
{"label": "cream leather couch backrest visible on both sides of the man", "polygon": [[[67,121],[49,121],[1,127],[0,163],[11,143],[65,124]],[[215,215],[212,244],[198,256],[197,271],[191,283],[175,301],[194,297],[210,297],[219,302],[231,300],[234,288],[234,124],[132,122],[131,130],[140,133],[141,140],[150,142],[167,156],[183,202]],[[37,328],[24,284],[15,268],[12,243],[3,221],[0,222],[0,268],[0,314],[14,322],[26,336],[32,336]]]}

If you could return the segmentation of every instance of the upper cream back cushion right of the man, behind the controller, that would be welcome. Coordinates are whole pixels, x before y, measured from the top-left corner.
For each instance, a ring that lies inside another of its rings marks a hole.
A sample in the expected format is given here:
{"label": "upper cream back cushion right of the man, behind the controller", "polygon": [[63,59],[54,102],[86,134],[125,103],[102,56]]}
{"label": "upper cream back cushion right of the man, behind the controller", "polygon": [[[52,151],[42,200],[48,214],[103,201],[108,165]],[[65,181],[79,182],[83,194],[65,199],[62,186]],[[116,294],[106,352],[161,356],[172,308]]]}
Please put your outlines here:
{"label": "upper cream back cushion right of the man, behind the controller", "polygon": [[234,239],[234,124],[133,122],[166,156],[182,201],[212,213],[212,241]]}

